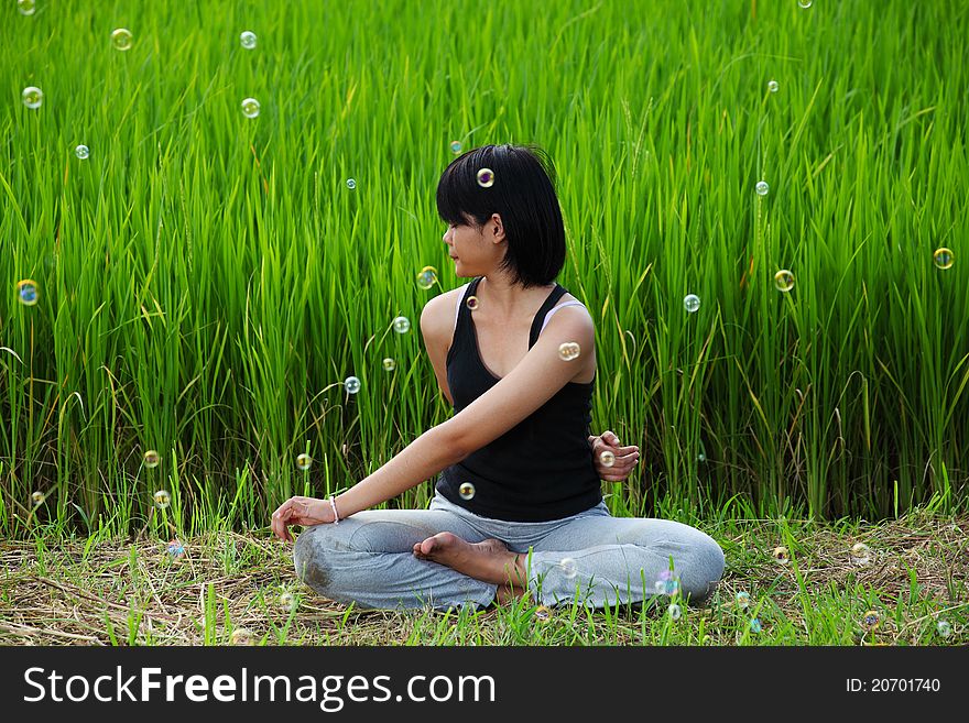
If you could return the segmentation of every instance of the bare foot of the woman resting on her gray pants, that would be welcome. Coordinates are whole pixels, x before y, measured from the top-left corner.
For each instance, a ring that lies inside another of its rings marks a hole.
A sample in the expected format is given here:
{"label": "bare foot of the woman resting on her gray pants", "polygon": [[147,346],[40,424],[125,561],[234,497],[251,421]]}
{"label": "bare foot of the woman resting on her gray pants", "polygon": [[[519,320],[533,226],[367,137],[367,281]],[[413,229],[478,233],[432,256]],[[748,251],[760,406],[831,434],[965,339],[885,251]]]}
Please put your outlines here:
{"label": "bare foot of the woman resting on her gray pants", "polygon": [[525,587],[519,556],[494,538],[468,543],[453,533],[438,533],[414,545],[414,557],[447,566],[482,582],[507,585],[511,581]]}

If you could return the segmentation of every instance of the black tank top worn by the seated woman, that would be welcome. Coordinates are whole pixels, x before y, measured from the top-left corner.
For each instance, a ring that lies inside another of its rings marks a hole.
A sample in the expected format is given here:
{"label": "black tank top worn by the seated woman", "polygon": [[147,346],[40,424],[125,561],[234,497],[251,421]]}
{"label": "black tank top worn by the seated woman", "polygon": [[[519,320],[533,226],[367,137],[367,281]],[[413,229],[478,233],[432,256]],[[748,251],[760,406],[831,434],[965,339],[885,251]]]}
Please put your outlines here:
{"label": "black tank top worn by the seated woman", "polygon": [[[465,303],[480,281],[476,278],[465,291],[447,353],[455,414],[500,381],[481,361],[475,322]],[[529,349],[538,340],[545,315],[566,293],[556,284],[545,299],[532,320]],[[476,515],[509,522],[560,519],[597,505],[602,491],[588,439],[594,384],[595,380],[568,382],[515,427],[442,471],[437,491]],[[475,485],[469,500],[460,494],[466,482]]]}

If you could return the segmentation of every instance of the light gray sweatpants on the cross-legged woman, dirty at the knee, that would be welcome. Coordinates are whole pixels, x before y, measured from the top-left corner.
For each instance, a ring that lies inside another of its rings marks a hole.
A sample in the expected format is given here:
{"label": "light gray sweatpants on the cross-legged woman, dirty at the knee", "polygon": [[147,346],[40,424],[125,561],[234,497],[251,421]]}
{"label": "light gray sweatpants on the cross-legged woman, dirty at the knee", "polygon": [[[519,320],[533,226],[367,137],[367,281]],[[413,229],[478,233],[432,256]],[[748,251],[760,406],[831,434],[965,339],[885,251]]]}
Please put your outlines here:
{"label": "light gray sweatpants on the cross-legged woman, dirty at the knee", "polygon": [[497,585],[414,557],[416,543],[443,532],[469,543],[494,537],[513,552],[531,548],[530,592],[549,606],[642,602],[656,594],[671,557],[681,592],[694,603],[723,572],[720,546],[678,522],[613,517],[605,502],[563,519],[504,522],[437,494],[429,510],[368,510],[306,528],[296,539],[296,574],[325,598],[360,609],[489,605]]}

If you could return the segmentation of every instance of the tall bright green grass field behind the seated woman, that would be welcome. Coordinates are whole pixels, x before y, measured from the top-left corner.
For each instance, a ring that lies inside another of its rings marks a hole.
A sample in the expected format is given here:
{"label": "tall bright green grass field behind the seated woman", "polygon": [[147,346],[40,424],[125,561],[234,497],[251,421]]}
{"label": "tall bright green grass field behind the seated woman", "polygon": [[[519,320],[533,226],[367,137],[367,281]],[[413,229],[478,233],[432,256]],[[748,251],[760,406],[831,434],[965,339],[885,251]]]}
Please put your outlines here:
{"label": "tall bright green grass field behind the seated woman", "polygon": [[465,281],[451,140],[556,162],[594,431],[643,451],[616,512],[965,507],[965,3],[37,4],[0,44],[3,534],[34,490],[32,524],[137,528],[165,488],[264,525],[447,418],[417,319]]}

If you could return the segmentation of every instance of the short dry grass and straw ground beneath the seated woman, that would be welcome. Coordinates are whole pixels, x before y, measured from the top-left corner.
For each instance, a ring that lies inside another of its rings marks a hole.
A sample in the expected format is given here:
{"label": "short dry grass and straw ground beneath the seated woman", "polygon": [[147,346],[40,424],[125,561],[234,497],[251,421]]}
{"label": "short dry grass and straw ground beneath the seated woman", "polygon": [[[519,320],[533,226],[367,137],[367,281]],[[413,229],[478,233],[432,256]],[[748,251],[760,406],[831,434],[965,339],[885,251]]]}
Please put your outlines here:
{"label": "short dry grass and straw ground beneath the seated woman", "polygon": [[[786,533],[784,532],[786,528]],[[243,628],[254,642],[283,645],[628,645],[850,644],[864,611],[882,614],[865,644],[966,644],[969,517],[913,513],[879,525],[731,521],[709,529],[728,569],[710,604],[672,628],[662,606],[643,615],[490,609],[478,614],[358,612],[303,587],[291,548],[264,534],[211,533],[184,540],[171,561],[163,540],[0,543],[0,644],[222,645]],[[865,543],[868,565],[851,560]],[[792,560],[771,552],[787,545]],[[737,592],[751,594],[738,610]],[[280,604],[293,594],[295,611]],[[764,632],[747,633],[751,612]],[[952,634],[935,633],[936,617]],[[664,633],[663,629],[666,632]],[[854,638],[859,642],[859,638]]]}

